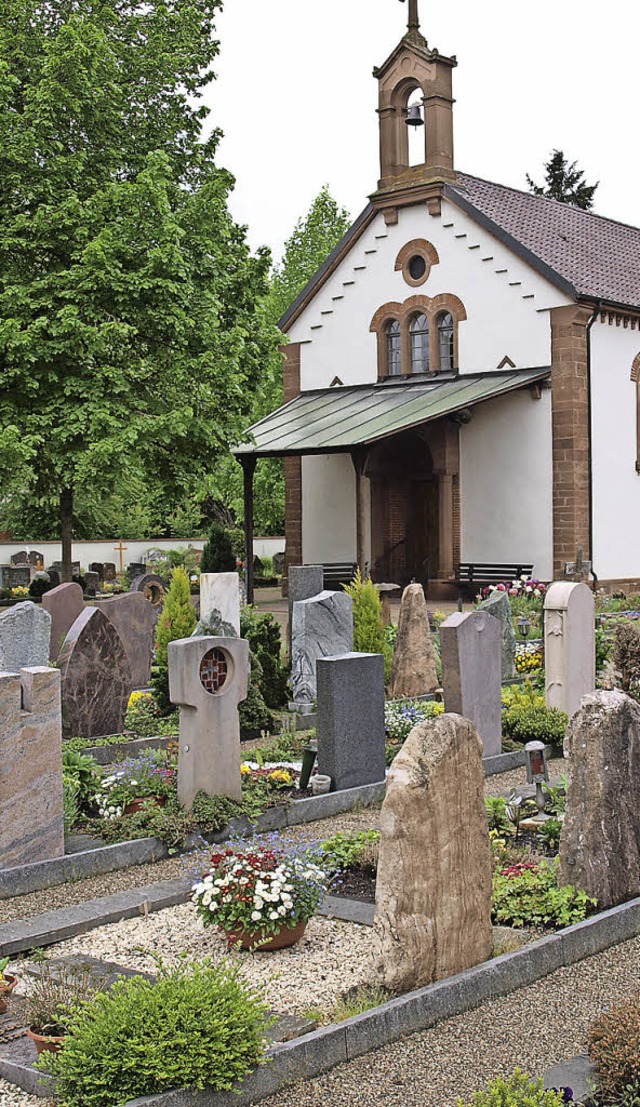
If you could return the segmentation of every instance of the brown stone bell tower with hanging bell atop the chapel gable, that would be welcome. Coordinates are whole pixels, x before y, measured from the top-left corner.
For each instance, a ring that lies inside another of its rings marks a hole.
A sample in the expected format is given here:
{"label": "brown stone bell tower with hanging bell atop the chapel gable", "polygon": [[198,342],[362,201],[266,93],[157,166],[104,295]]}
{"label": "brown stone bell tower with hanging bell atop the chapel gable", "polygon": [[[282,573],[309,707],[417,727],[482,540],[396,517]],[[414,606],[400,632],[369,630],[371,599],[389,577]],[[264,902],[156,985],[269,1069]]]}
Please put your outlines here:
{"label": "brown stone bell tower with hanging bell atop the chapel gable", "polygon": [[[430,49],[420,31],[417,0],[409,0],[406,34],[384,64],[373,70],[379,86],[381,175],[371,200],[384,210],[388,223],[394,223],[398,208],[406,204],[425,201],[437,214],[444,182],[455,179],[452,72],[456,64],[455,58]],[[421,131],[424,126],[424,152],[416,165],[409,157],[411,126]]]}

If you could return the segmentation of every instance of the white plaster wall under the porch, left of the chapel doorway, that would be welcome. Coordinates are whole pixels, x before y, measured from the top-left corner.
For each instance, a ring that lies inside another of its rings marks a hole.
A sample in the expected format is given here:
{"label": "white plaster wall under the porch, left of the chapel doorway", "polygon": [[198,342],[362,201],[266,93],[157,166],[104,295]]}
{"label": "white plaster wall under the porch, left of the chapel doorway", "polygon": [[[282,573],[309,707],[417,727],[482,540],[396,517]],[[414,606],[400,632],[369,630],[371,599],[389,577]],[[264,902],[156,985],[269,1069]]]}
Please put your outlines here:
{"label": "white plaster wall under the porch, left of the chapel doorway", "polygon": [[349,454],[302,458],[302,561],[355,561],[355,472]]}

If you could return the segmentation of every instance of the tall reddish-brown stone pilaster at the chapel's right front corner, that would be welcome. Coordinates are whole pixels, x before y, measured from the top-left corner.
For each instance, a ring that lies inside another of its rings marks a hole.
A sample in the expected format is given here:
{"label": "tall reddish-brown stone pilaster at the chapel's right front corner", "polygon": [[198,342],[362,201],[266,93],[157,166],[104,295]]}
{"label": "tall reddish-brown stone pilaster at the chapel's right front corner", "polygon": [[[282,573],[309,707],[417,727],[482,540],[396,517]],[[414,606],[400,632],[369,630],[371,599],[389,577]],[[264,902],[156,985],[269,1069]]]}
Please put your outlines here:
{"label": "tall reddish-brown stone pilaster at the chapel's right front corner", "polygon": [[554,577],[578,547],[589,549],[588,308],[553,308],[551,433],[554,458]]}

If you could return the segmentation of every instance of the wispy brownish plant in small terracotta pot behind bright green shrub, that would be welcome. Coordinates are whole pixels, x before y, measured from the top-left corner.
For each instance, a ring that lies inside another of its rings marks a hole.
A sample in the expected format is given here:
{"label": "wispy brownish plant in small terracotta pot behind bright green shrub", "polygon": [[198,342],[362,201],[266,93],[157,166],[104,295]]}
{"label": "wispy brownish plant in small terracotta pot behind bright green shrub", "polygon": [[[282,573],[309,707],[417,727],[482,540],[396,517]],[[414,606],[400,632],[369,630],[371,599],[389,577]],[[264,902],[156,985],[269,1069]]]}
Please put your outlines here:
{"label": "wispy brownish plant in small terracotta pot behind bright green shrub", "polygon": [[103,983],[87,965],[45,961],[39,966],[25,1000],[27,1034],[38,1056],[62,1048],[71,1008],[92,1000]]}

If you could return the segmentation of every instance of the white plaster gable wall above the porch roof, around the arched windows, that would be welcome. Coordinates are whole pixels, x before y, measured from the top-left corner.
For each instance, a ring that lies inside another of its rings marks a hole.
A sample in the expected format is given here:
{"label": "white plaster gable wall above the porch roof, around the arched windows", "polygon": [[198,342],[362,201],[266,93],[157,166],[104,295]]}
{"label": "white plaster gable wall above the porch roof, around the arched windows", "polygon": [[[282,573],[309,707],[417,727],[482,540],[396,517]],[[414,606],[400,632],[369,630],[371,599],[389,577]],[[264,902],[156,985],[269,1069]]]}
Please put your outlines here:
{"label": "white plaster gable wall above the porch roof, around the arched windows", "polygon": [[[426,238],[440,262],[419,288],[394,269],[401,248]],[[516,368],[550,364],[548,309],[568,303],[554,284],[478,227],[453,204],[430,216],[424,204],[402,208],[386,226],[378,215],[336,272],[292,324],[301,349],[301,387],[328,387],[376,380],[376,342],[369,330],[375,311],[414,294],[453,293],[467,320],[460,324],[461,373],[496,370],[505,355]]]}

